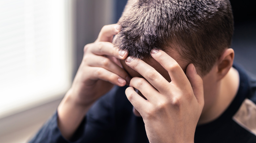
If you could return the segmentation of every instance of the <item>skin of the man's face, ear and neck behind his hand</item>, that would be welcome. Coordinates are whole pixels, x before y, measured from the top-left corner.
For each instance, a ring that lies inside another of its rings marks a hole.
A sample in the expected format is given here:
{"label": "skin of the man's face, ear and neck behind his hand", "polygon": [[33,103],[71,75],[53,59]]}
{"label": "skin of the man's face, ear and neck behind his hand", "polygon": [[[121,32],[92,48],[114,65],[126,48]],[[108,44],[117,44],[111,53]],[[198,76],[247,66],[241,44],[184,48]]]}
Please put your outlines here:
{"label": "skin of the man's face, ear and neck behind his hand", "polygon": [[[177,63],[185,72],[189,63],[180,60],[179,56],[177,56],[178,53],[173,50],[166,53],[177,59]],[[208,74],[202,76],[200,72],[198,73],[203,79],[205,102],[198,124],[217,119],[234,99],[239,87],[239,74],[232,68],[233,59],[233,49],[226,49]],[[156,69],[167,81],[171,82],[168,72],[156,60],[150,59],[150,61],[144,62]],[[137,71],[126,65],[125,60],[121,60],[121,64],[132,77],[137,76],[143,78]],[[138,93],[143,97],[140,92]],[[135,108],[133,112],[136,116],[141,116]]]}

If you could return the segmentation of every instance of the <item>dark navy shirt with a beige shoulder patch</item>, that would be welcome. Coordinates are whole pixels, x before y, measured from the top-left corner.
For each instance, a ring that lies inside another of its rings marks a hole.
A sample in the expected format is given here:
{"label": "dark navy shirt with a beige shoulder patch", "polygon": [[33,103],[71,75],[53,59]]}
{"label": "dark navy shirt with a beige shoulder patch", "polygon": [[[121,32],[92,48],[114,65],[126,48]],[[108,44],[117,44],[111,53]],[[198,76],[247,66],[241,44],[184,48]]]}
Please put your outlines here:
{"label": "dark navy shirt with a beige shoulder patch", "polygon": [[[240,76],[238,93],[216,120],[197,126],[195,143],[256,143],[256,80],[234,66]],[[127,87],[114,87],[89,110],[71,141],[57,126],[57,112],[31,143],[148,143],[141,117],[136,117],[124,93]]]}

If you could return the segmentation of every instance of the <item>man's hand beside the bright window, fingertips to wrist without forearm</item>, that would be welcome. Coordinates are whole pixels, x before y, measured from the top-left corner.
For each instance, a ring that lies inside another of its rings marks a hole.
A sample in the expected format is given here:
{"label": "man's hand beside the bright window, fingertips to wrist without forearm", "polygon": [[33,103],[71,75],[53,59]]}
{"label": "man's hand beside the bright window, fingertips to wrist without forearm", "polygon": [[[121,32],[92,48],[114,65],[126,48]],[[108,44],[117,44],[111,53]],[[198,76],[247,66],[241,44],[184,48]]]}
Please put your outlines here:
{"label": "man's hand beside the bright window, fingertips to wrist without forearm", "polygon": [[128,53],[119,51],[112,44],[113,36],[117,33],[117,24],[105,25],[97,40],[85,45],[83,60],[71,87],[77,103],[90,105],[113,85],[129,84],[130,77],[119,63],[119,59],[125,59]]}

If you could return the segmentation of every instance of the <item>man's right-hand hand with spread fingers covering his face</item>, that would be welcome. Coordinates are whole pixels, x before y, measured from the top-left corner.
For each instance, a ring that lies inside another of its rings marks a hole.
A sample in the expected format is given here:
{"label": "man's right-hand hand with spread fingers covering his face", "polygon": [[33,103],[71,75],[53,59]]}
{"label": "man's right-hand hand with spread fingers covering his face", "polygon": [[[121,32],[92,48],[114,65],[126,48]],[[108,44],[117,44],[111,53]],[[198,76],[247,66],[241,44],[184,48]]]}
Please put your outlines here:
{"label": "man's right-hand hand with spread fingers covering his face", "polygon": [[[143,60],[128,57],[125,63],[144,78],[134,77],[125,91],[140,113],[151,143],[194,142],[197,122],[203,110],[203,81],[193,64],[186,68],[161,50],[151,56],[169,73],[168,82]],[[134,88],[146,98],[142,98]]]}

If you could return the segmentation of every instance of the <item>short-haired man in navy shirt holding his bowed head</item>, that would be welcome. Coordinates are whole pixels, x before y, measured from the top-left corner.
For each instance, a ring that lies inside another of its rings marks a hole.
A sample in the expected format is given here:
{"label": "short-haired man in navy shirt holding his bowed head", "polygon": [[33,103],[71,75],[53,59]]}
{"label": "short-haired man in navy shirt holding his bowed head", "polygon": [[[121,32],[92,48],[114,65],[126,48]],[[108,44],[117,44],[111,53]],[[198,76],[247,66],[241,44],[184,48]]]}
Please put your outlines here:
{"label": "short-haired man in navy shirt holding his bowed head", "polygon": [[31,142],[256,142],[256,82],[232,67],[232,33],[228,0],[128,1]]}

